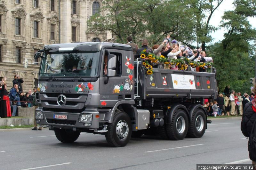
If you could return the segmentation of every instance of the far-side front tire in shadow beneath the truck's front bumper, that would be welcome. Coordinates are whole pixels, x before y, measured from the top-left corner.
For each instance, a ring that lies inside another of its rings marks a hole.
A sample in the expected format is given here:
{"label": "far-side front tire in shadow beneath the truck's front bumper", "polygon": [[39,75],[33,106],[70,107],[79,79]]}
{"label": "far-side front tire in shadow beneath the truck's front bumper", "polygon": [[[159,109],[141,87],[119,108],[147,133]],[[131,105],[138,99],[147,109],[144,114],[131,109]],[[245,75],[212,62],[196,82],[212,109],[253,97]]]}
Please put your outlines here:
{"label": "far-side front tire in shadow beneath the truck's front bumper", "polygon": [[56,138],[60,142],[64,142],[64,143],[75,142],[80,135],[80,131],[72,131],[69,129],[54,129],[54,133]]}

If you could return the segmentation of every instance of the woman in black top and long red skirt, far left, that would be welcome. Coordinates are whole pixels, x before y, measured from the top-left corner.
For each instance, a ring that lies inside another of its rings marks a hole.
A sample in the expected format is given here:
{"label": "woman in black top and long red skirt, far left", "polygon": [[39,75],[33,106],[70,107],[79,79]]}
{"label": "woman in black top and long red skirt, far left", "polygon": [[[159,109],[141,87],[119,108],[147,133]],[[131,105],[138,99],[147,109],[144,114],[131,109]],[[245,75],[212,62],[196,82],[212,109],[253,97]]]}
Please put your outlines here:
{"label": "woman in black top and long red skirt, far left", "polygon": [[6,78],[2,80],[2,87],[1,87],[1,100],[0,100],[0,110],[1,115],[0,117],[11,117],[11,106],[10,106],[10,98],[8,95],[7,86],[6,86]]}

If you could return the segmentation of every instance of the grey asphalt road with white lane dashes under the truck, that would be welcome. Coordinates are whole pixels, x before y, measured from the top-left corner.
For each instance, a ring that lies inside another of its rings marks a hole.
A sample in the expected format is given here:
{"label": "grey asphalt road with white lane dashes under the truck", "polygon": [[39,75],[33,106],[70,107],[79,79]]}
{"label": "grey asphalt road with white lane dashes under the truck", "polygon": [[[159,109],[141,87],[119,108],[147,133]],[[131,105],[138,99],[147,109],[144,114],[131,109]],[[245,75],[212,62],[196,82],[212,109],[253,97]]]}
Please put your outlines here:
{"label": "grey asphalt road with white lane dashes under the truck", "polygon": [[251,164],[240,123],[240,117],[212,119],[202,138],[170,141],[143,135],[121,148],[89,133],[64,144],[48,128],[0,131],[0,169],[194,170],[196,164]]}

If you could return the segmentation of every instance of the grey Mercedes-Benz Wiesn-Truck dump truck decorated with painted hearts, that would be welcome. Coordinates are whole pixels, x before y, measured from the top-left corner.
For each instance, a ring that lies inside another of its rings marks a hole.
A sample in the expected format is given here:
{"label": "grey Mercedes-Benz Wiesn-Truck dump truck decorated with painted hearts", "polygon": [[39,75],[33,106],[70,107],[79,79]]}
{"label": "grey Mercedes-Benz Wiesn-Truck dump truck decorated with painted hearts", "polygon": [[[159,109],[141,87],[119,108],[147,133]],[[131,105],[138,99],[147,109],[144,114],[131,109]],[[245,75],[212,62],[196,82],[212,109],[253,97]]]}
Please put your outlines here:
{"label": "grey Mercedes-Benz Wiesn-Truck dump truck decorated with painted hearts", "polygon": [[44,46],[35,111],[61,142],[80,132],[105,135],[115,147],[132,136],[200,138],[207,128],[204,99],[214,99],[214,73],[153,68],[148,75],[129,45],[81,42]]}

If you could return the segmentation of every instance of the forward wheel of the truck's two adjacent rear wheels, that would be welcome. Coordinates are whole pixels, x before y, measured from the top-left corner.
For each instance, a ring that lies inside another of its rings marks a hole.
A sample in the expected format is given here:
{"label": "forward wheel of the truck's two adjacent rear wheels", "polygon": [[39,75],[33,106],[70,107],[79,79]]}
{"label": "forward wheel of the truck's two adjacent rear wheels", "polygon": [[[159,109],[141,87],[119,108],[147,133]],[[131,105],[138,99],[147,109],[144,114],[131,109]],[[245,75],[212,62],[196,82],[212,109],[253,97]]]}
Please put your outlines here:
{"label": "forward wheel of the truck's two adjacent rear wheels", "polygon": [[188,133],[188,116],[184,110],[177,109],[171,123],[166,124],[166,133],[171,140],[182,140]]}

